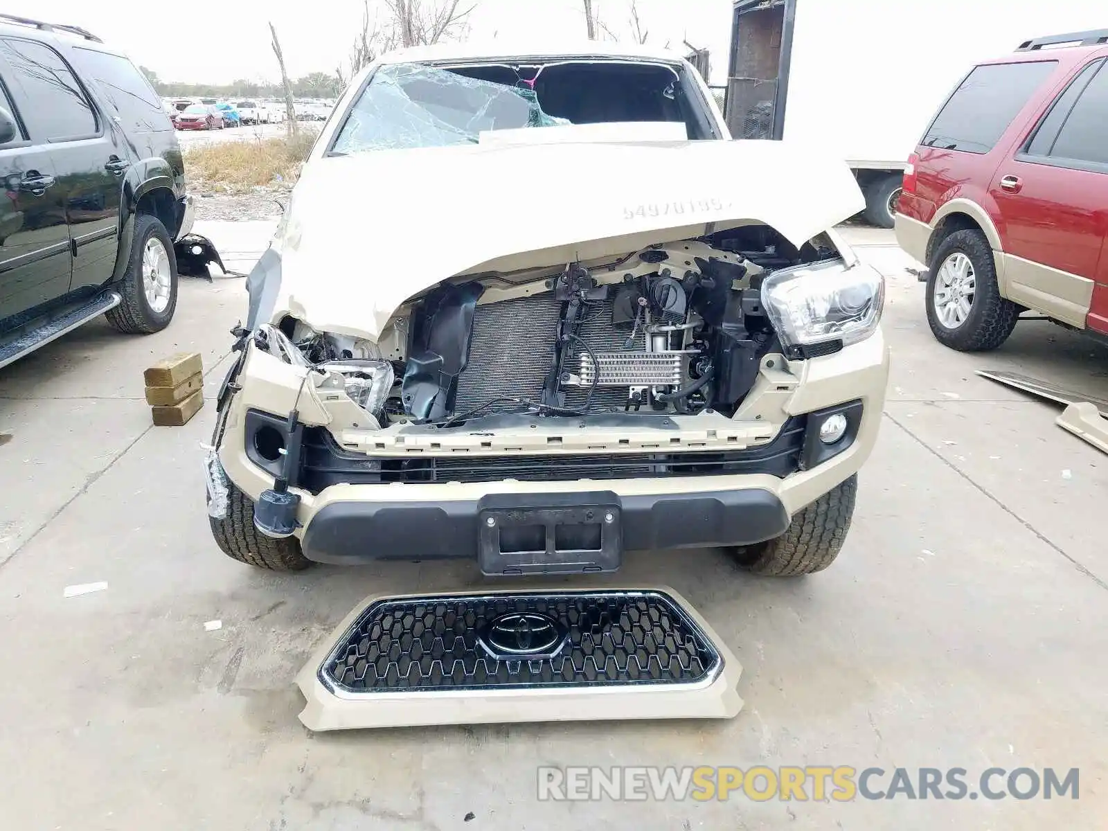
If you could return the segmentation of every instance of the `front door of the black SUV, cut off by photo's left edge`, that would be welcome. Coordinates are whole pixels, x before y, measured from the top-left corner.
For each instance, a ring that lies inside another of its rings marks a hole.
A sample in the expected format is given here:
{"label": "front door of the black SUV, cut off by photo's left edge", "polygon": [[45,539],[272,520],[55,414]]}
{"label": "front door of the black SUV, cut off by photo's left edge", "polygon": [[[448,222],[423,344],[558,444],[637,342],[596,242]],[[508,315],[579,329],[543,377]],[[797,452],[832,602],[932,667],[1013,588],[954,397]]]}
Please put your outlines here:
{"label": "front door of the black SUV, cut off by photo's left edge", "polygon": [[[69,290],[73,256],[65,204],[48,145],[30,141],[8,93],[11,73],[0,62],[0,107],[16,135],[0,144],[0,331],[25,322],[23,312]],[[33,312],[32,312],[33,314]]]}

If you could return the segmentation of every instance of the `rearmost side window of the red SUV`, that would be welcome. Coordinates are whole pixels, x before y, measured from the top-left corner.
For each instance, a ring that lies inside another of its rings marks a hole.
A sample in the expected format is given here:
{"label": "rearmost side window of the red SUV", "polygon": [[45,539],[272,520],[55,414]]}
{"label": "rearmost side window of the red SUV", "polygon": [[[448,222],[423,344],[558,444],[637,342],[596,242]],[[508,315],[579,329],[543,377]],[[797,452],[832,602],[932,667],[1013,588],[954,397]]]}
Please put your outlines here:
{"label": "rearmost side window of the red SUV", "polygon": [[988,153],[1057,61],[977,66],[938,111],[921,144]]}

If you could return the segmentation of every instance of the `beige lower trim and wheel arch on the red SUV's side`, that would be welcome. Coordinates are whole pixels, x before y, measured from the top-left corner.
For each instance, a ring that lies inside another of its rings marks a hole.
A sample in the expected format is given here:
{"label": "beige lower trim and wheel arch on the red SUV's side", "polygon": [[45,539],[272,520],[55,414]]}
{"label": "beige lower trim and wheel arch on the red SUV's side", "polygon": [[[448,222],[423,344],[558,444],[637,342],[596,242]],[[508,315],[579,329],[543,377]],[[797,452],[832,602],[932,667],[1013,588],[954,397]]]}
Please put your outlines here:
{"label": "beige lower trim and wheel arch on the red SUV's side", "polygon": [[1007,254],[1001,235],[988,214],[970,199],[952,199],[943,205],[931,223],[922,223],[903,214],[896,215],[896,243],[914,259],[927,263],[927,246],[938,224],[951,214],[965,214],[981,226],[993,249],[996,281],[1001,296],[1064,324],[1085,328],[1092,302],[1094,281],[1029,259]]}

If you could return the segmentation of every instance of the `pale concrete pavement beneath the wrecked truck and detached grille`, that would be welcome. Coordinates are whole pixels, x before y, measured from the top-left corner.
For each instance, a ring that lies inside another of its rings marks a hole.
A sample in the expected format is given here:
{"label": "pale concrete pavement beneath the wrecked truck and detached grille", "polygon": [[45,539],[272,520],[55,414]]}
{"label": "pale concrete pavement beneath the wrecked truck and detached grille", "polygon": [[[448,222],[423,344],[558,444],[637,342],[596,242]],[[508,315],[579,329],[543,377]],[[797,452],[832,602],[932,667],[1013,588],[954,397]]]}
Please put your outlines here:
{"label": "pale concrete pavement beneath the wrecked truck and detached grille", "polygon": [[[245,270],[269,227],[197,230]],[[183,429],[152,428],[142,369],[197,350],[211,398],[242,279],[185,280],[160,335],[98,322],[4,369],[0,827],[1102,828],[1108,459],[1055,427],[1055,408],[974,370],[1108,397],[1108,351],[1045,322],[989,355],[946,350],[891,236],[859,239],[888,276],[894,368],[839,561],[772,581],[719,551],[636,553],[604,581],[670,584],[711,622],[745,667],[746,707],[727,722],[311,735],[294,674],[358,601],[492,582],[431,563],[283,576],[219,553],[199,448],[213,404]],[[98,581],[106,591],[63,597]],[[212,619],[223,627],[206,632]],[[961,767],[971,779],[1077,767],[1080,799],[535,800],[538,765],[700,763]]]}

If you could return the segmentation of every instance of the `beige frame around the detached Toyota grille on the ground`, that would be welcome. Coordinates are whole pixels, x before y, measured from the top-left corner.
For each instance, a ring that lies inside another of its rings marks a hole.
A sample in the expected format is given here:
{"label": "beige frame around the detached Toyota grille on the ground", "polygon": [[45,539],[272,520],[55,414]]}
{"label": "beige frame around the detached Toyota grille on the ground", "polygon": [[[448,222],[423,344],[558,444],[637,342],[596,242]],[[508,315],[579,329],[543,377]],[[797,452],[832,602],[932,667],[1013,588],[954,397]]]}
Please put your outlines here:
{"label": "beige frame around the detached Toyota grille on the ground", "polygon": [[[527,591],[533,591],[529,586]],[[586,587],[587,588],[587,587]],[[720,669],[700,684],[650,687],[561,687],[554,689],[417,690],[350,695],[331,691],[319,680],[319,668],[335,643],[361,613],[384,595],[367,597],[324,642],[297,675],[306,704],[300,721],[309,730],[350,730],[372,727],[425,725],[482,725],[520,721],[605,721],[663,718],[733,718],[742,708],[736,690],[742,666],[708,622],[677,592],[668,594],[712,643]],[[582,591],[582,586],[574,586]],[[557,591],[557,589],[552,589]],[[634,591],[634,589],[633,589]],[[433,594],[423,592],[424,594]],[[505,592],[450,592],[451,596],[512,594]]]}

